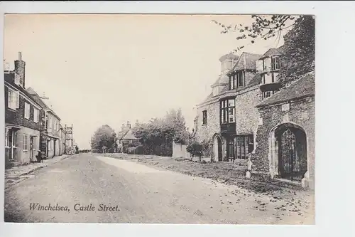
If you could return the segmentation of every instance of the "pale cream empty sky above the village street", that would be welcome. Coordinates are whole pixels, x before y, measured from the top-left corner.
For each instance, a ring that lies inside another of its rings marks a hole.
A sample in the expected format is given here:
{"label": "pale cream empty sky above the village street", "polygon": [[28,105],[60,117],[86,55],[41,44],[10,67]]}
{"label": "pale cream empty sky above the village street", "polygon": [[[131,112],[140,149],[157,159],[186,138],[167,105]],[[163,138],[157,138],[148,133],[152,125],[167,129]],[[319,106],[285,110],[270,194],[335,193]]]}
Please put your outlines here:
{"label": "pale cream empty sky above the village street", "polygon": [[[181,108],[187,127],[195,105],[212,92],[219,57],[246,45],[265,53],[283,45],[251,44],[221,34],[212,19],[250,23],[250,15],[7,15],[4,60],[26,61],[26,88],[45,95],[80,149],[98,127],[148,122]],[[240,54],[240,53],[237,53]]]}

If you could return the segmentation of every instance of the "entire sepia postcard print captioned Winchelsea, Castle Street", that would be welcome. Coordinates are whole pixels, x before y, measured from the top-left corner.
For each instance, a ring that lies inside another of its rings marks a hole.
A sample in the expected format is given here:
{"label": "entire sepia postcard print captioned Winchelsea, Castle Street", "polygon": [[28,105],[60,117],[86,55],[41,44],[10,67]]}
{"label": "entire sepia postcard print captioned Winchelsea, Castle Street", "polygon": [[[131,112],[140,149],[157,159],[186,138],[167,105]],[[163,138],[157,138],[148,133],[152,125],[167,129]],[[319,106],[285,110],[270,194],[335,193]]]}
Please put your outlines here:
{"label": "entire sepia postcard print captioned Winchelsea, Castle Street", "polygon": [[315,225],[315,21],[5,14],[4,221]]}

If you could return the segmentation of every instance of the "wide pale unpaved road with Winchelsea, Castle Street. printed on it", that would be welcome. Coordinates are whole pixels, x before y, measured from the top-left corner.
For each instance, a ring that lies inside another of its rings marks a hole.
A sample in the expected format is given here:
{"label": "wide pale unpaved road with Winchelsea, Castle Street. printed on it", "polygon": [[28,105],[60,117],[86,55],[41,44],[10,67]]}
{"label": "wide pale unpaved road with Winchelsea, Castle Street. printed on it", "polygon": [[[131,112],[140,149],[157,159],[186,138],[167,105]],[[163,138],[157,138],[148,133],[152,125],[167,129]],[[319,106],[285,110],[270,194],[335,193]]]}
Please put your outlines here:
{"label": "wide pale unpaved road with Winchelsea, Castle Street. printed on it", "polygon": [[[31,210],[30,206],[36,204],[35,210]],[[38,210],[39,206],[44,208],[49,204],[62,206],[64,210]],[[35,171],[28,179],[7,189],[5,221],[314,223],[312,211],[305,205],[297,206],[302,211],[295,212],[286,210],[289,207],[283,209],[286,204],[287,201],[272,200],[271,196],[253,194],[210,179],[80,154]]]}

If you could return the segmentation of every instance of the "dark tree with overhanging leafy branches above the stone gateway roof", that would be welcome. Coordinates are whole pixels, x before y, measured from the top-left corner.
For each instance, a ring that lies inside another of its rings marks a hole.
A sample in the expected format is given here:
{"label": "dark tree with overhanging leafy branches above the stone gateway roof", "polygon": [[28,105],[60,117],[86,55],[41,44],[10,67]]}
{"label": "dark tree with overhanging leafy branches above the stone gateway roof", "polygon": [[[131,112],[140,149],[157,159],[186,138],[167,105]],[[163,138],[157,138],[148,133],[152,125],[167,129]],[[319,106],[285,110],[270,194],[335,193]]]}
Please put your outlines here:
{"label": "dark tree with overhanging leafy branches above the stone gateway roof", "polygon": [[[236,24],[226,26],[214,21],[223,28],[221,33],[237,33],[236,40],[256,43],[256,39],[268,40],[277,37],[280,41],[284,36],[283,60],[287,63],[280,68],[278,79],[287,85],[300,75],[315,70],[315,19],[313,16],[291,15],[253,15],[253,22],[249,26]],[[292,27],[292,28],[291,28]],[[241,51],[241,44],[234,51]]]}

